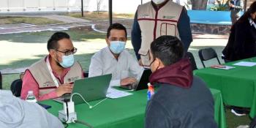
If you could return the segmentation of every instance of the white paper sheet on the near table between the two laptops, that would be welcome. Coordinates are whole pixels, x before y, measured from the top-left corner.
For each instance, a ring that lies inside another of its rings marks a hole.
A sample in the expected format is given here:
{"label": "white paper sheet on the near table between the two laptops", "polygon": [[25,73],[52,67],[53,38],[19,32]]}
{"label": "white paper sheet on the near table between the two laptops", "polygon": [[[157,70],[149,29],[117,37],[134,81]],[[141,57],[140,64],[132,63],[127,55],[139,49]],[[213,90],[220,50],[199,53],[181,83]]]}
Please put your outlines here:
{"label": "white paper sheet on the near table between the two laptops", "polygon": [[129,92],[125,92],[125,91],[120,91],[117,89],[113,89],[113,88],[108,88],[108,93],[106,95],[106,97],[111,98],[111,99],[116,99],[116,98],[120,98],[120,97],[126,97],[131,95],[131,93]]}

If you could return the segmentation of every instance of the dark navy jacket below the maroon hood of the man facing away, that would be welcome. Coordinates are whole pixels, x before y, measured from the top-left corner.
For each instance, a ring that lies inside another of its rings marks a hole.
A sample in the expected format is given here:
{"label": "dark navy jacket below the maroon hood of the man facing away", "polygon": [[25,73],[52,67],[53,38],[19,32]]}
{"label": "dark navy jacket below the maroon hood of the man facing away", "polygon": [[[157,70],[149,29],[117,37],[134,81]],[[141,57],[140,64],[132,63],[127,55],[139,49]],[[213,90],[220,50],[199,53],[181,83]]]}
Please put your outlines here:
{"label": "dark navy jacket below the maroon hood of the man facing away", "polygon": [[206,83],[194,76],[189,89],[158,83],[146,108],[146,128],[217,128],[214,99]]}

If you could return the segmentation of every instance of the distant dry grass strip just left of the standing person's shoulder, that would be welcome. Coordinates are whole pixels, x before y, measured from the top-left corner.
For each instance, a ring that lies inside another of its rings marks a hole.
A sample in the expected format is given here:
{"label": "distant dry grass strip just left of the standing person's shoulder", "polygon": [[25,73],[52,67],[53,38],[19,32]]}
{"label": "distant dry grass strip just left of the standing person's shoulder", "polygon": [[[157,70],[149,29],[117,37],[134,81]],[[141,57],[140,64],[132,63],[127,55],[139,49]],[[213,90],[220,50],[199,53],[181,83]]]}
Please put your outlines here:
{"label": "distant dry grass strip just left of the standing person's shoulder", "polygon": [[[84,12],[84,17],[82,17],[79,12],[69,13],[69,16],[75,18],[83,18],[86,20],[108,20],[108,12]],[[113,19],[124,19],[124,18],[134,18],[135,14],[113,14]]]}

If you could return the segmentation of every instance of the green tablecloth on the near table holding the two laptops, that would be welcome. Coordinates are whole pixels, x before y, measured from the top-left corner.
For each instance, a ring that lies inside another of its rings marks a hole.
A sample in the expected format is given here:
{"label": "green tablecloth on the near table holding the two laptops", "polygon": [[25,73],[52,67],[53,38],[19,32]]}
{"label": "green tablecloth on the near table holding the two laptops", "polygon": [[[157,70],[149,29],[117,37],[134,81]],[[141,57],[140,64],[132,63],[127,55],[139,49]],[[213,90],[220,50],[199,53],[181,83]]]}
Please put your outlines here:
{"label": "green tablecloth on the near table holding the two laptops", "polygon": [[[144,127],[144,116],[147,104],[147,90],[132,91],[132,95],[118,99],[107,99],[96,108],[89,109],[88,105],[75,105],[78,120],[86,121],[95,128],[140,128]],[[212,89],[211,93],[215,99],[215,119],[220,128],[225,128],[225,112],[222,105],[222,97],[219,91]],[[98,102],[98,101],[97,101]],[[90,102],[94,105],[97,102]],[[58,111],[63,109],[63,105],[47,100],[41,102],[51,105],[48,112],[58,117]],[[69,124],[69,127],[84,127],[82,124]]]}

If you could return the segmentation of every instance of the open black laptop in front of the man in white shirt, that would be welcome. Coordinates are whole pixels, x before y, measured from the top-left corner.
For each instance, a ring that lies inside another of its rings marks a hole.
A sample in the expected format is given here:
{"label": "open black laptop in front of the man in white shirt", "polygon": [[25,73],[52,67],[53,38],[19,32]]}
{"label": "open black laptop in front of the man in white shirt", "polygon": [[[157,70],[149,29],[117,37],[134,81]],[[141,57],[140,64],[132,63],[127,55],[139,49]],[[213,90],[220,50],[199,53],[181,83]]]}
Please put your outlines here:
{"label": "open black laptop in front of the man in white shirt", "polygon": [[133,89],[135,91],[148,89],[149,76],[151,75],[151,69],[144,69],[143,74],[140,77],[140,81],[136,85],[120,86],[123,89]]}

